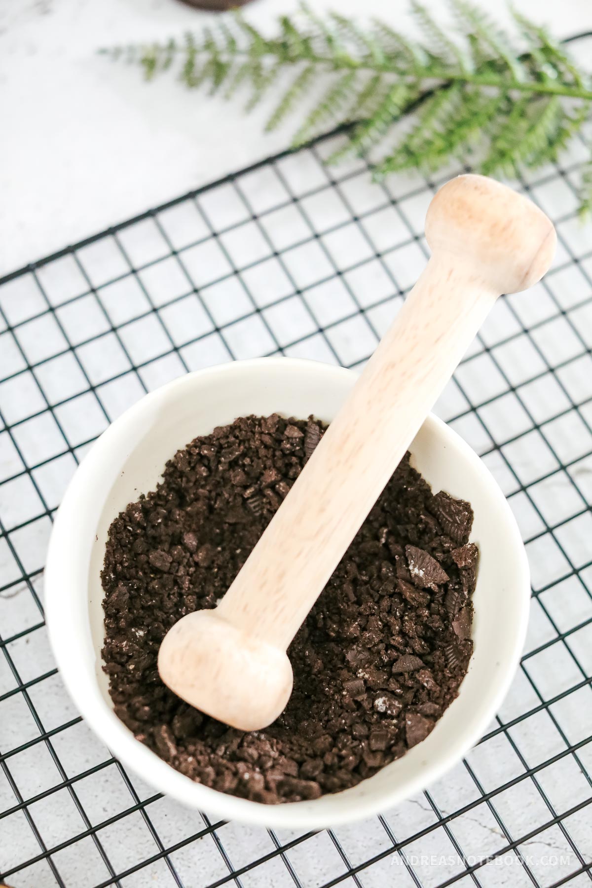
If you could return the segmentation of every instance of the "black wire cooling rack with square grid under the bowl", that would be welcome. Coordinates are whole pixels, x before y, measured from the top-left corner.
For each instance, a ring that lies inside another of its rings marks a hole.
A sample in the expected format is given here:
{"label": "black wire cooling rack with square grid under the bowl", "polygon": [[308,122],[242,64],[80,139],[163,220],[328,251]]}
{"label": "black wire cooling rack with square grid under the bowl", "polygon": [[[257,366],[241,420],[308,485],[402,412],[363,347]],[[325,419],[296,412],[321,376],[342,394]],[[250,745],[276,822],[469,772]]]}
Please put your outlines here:
{"label": "black wire cooling rack with square grid under the bowl", "polygon": [[[67,698],[43,623],[53,511],[91,441],[187,370],[283,353],[359,367],[427,255],[439,181],[323,165],[332,135],[0,281],[0,871],[15,888],[592,883],[592,235],[580,161],[520,183],[556,221],[545,281],[498,301],[438,401],[509,497],[526,653],[478,746],[351,828],[213,822],[154,795]],[[459,170],[446,171],[446,177]],[[2,881],[2,879],[0,879]]]}

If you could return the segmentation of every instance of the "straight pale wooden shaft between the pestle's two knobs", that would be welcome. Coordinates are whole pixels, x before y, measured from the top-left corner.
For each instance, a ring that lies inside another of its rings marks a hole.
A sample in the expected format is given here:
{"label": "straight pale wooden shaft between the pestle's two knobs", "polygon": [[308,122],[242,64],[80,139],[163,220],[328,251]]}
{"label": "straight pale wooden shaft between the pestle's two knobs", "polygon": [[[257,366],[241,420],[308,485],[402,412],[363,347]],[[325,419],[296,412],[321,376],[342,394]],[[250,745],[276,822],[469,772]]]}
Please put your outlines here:
{"label": "straight pale wooden shaft between the pestle's two knobs", "polygon": [[499,296],[435,255],[218,613],[286,650]]}

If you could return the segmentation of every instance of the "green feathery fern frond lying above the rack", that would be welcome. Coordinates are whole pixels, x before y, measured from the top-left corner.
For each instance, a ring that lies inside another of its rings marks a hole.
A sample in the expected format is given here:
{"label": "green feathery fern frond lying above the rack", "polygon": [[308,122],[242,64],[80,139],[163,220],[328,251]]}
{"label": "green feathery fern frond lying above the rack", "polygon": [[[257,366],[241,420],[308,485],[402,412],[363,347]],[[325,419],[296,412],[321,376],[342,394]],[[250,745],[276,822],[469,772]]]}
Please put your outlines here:
{"label": "green feathery fern frond lying above the rack", "polygon": [[[248,91],[248,111],[280,92],[268,130],[299,114],[293,144],[300,145],[347,124],[345,144],[328,163],[372,150],[379,178],[438,170],[453,157],[504,174],[558,160],[592,117],[592,79],[564,46],[519,12],[512,28],[501,28],[474,0],[449,0],[457,23],[450,36],[422,0],[411,2],[417,42],[383,21],[366,27],[303,6],[280,16],[272,36],[234,13],[185,40],[104,54],[137,65],[146,79],[175,67],[190,88],[226,99]],[[396,127],[404,116],[409,125]],[[581,206],[592,207],[592,169]]]}

